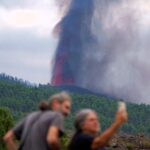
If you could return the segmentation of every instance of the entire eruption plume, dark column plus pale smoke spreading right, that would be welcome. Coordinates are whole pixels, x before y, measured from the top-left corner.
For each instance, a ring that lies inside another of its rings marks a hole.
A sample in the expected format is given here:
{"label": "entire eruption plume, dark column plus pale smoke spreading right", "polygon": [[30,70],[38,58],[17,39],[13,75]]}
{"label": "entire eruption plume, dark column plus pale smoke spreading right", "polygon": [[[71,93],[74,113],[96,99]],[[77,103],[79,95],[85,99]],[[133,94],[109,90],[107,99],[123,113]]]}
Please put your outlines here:
{"label": "entire eruption plume, dark column plus pale smoke spreading right", "polygon": [[66,9],[52,84],[150,103],[150,2],[72,0]]}

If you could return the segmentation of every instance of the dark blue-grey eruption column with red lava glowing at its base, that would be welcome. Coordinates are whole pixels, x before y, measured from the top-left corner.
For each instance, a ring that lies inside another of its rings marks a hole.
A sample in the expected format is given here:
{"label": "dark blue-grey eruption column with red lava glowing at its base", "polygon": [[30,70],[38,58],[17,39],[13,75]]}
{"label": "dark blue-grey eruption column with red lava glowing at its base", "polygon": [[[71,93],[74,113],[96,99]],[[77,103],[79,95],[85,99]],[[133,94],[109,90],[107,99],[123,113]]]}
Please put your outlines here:
{"label": "dark blue-grey eruption column with red lava glowing at its base", "polygon": [[77,84],[83,52],[92,40],[93,0],[74,0],[67,15],[59,23],[60,40],[56,50],[52,84]]}

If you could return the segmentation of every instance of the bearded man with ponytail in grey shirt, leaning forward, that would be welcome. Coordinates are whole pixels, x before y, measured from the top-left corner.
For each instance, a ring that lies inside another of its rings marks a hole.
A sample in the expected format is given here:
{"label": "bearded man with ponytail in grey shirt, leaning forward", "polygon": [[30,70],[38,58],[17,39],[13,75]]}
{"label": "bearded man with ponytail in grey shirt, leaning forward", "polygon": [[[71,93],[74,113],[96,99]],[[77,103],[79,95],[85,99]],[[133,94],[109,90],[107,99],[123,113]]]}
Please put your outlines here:
{"label": "bearded man with ponytail in grey shirt, leaning forward", "polygon": [[63,134],[63,118],[68,116],[71,98],[59,93],[42,102],[40,111],[33,112],[4,137],[8,150],[17,150],[15,139],[21,142],[19,150],[59,150],[59,137]]}

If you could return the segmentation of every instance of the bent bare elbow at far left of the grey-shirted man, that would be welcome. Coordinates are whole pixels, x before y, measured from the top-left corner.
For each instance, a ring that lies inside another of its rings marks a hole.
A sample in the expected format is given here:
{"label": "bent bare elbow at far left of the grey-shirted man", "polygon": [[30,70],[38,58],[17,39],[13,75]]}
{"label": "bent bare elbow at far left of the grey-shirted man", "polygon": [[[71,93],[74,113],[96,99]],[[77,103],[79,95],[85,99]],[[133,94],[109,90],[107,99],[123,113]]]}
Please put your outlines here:
{"label": "bent bare elbow at far left of the grey-shirted man", "polygon": [[13,131],[8,131],[6,135],[4,136],[4,142],[6,144],[7,150],[17,150],[17,144],[15,142],[15,135]]}

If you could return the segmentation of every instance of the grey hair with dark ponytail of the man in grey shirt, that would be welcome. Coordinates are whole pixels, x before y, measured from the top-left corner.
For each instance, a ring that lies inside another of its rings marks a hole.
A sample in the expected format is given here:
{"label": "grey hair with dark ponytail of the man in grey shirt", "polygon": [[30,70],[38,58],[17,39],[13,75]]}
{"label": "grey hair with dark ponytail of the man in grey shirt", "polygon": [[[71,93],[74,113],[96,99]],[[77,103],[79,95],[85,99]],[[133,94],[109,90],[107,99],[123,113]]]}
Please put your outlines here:
{"label": "grey hair with dark ponytail of the man in grey shirt", "polygon": [[41,111],[52,110],[53,102],[57,100],[60,104],[65,101],[72,101],[70,95],[67,92],[57,93],[48,98],[48,101],[41,101],[39,104],[39,109]]}

